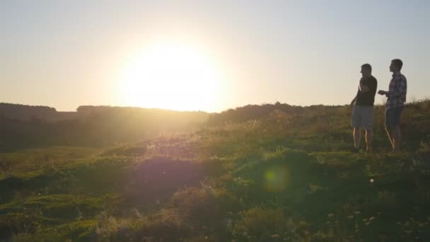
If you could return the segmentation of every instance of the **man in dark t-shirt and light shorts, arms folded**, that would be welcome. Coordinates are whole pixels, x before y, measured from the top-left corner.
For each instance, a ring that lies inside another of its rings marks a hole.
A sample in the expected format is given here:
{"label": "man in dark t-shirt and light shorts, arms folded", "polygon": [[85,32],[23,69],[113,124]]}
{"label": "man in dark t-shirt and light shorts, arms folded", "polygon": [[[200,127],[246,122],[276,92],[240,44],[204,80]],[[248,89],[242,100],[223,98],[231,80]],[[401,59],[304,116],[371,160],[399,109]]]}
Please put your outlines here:
{"label": "man in dark t-shirt and light shorts, arms folded", "polygon": [[366,152],[372,152],[373,103],[378,81],[372,76],[370,64],[361,66],[361,79],[357,95],[351,101],[351,125],[354,128],[354,152],[360,149],[361,129],[366,130]]}

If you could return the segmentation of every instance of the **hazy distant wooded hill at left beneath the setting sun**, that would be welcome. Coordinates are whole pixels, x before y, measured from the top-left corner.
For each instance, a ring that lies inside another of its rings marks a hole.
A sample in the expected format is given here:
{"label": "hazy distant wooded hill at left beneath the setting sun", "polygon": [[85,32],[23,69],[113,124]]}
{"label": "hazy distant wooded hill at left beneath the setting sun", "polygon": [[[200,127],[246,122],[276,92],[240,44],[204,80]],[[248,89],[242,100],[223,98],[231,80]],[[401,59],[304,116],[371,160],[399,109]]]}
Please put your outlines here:
{"label": "hazy distant wooded hill at left beneath the setting sun", "polygon": [[204,112],[90,105],[76,112],[57,112],[50,107],[0,103],[0,151],[132,142],[163,130],[197,127],[208,118]]}

